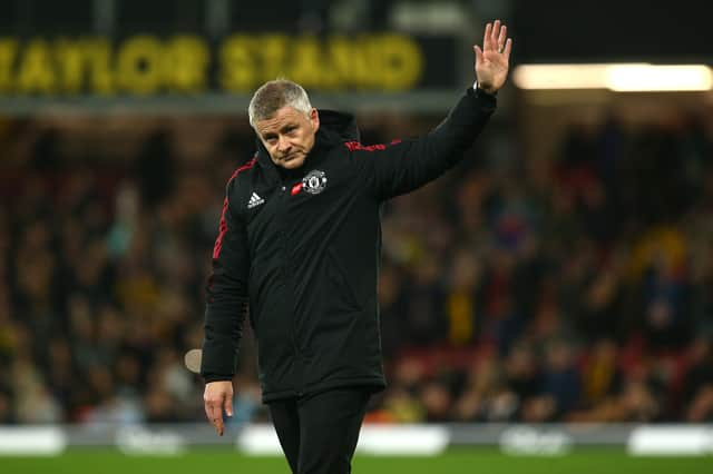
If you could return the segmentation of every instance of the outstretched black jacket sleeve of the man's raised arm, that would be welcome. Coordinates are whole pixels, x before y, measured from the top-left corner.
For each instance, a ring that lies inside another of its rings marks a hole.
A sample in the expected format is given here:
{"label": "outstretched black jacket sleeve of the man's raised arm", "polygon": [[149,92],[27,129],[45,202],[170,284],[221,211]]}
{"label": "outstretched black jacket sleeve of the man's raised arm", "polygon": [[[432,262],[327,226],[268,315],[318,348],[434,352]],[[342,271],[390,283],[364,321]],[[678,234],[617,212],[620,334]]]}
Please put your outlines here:
{"label": "outstretched black jacket sleeve of the man's raised arm", "polygon": [[495,96],[468,88],[448,117],[421,138],[391,145],[346,146],[354,159],[364,160],[367,180],[375,196],[388,199],[412,191],[452,168],[463,158],[495,108]]}

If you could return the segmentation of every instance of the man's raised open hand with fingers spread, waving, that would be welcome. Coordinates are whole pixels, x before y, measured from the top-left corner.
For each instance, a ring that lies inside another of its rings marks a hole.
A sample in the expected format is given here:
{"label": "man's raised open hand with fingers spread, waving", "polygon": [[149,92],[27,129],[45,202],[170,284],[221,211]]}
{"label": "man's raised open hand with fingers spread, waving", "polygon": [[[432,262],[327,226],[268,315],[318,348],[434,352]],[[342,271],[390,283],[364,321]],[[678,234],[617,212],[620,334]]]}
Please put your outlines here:
{"label": "man's raised open hand with fingers spread, waving", "polygon": [[476,78],[478,87],[488,93],[495,93],[502,87],[510,68],[512,39],[507,37],[508,27],[495,20],[486,24],[482,49],[473,46],[476,51]]}

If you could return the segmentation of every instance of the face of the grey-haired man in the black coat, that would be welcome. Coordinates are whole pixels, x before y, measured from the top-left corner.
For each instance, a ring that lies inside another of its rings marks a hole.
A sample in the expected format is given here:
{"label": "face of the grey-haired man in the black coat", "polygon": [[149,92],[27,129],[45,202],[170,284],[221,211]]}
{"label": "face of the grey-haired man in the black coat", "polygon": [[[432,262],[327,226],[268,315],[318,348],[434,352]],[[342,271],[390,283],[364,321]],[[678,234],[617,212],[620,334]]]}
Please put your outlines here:
{"label": "face of the grey-haired man in the black coat", "polygon": [[316,109],[310,110],[307,116],[289,106],[277,110],[271,118],[255,122],[255,131],[272,161],[287,169],[299,168],[304,164],[319,129],[320,117]]}

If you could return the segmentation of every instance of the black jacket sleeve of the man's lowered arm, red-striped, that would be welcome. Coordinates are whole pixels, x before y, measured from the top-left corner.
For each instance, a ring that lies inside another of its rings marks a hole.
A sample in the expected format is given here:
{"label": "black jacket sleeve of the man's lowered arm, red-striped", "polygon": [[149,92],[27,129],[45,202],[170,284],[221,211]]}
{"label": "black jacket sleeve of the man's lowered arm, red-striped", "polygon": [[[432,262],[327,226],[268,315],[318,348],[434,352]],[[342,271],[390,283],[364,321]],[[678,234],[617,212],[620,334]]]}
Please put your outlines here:
{"label": "black jacket sleeve of the man's lowered arm, red-striped", "polygon": [[233,211],[227,185],[218,237],[213,249],[213,271],[208,278],[201,375],[206,383],[233,378],[237,349],[247,313],[250,270],[245,226]]}

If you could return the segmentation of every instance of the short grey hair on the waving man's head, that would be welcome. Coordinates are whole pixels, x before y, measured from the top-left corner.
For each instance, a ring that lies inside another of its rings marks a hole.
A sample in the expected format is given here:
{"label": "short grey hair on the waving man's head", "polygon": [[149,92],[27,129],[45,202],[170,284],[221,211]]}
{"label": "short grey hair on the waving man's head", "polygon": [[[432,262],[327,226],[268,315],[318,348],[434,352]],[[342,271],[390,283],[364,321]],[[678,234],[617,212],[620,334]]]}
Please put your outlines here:
{"label": "short grey hair on the waving man's head", "polygon": [[262,85],[253,95],[247,107],[250,125],[271,118],[283,107],[292,107],[306,115],[312,110],[307,92],[296,82],[289,79],[275,79]]}

